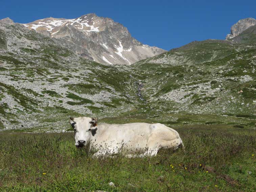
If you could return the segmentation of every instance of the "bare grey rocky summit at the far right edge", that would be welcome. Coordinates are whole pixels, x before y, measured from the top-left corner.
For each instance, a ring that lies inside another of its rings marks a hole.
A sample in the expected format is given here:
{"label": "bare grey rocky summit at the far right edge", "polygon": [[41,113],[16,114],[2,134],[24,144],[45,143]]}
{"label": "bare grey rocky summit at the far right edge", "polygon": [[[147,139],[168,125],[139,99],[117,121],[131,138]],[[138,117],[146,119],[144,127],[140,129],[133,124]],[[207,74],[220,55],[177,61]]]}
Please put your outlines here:
{"label": "bare grey rocky summit at the far right edge", "polygon": [[253,18],[239,20],[236,24],[234,24],[231,27],[230,34],[227,35],[226,40],[236,37],[241,32],[245,31],[246,29],[254,25],[256,25],[256,20]]}

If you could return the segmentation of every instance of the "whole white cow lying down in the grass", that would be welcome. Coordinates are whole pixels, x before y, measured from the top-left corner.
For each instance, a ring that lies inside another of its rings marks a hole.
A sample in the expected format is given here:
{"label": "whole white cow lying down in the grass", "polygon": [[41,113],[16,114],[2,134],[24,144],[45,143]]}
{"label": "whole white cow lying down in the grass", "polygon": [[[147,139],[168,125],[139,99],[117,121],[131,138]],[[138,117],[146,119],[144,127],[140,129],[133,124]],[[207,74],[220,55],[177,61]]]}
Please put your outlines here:
{"label": "whole white cow lying down in the grass", "polygon": [[75,146],[89,145],[94,156],[115,155],[126,157],[154,156],[159,149],[179,146],[184,149],[178,132],[160,123],[97,124],[97,119],[70,117],[75,132]]}

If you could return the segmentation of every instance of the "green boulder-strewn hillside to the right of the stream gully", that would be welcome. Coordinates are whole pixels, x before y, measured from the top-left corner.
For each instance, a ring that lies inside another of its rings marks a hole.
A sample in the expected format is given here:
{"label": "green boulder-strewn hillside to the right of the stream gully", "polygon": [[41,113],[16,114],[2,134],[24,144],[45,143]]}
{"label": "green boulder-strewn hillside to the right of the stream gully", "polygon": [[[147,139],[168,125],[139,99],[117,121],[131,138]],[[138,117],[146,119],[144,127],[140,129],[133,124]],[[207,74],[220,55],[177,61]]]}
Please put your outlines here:
{"label": "green boulder-strewn hillside to the right of the stream gully", "polygon": [[256,115],[255,55],[256,44],[206,40],[133,67],[147,71],[141,93],[161,111]]}

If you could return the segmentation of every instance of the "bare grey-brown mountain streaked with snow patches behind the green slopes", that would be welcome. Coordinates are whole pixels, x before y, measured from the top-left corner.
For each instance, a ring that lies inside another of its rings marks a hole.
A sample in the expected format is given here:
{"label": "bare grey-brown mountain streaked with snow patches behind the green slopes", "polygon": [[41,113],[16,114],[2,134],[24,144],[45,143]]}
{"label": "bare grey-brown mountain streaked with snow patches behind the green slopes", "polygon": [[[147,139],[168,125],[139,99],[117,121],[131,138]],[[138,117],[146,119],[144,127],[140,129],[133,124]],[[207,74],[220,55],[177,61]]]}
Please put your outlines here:
{"label": "bare grey-brown mountain streaked with snow patches behind the green slopes", "polygon": [[[1,20],[0,20],[1,22]],[[2,22],[14,24],[9,18]],[[143,45],[132,38],[126,27],[95,14],[76,19],[45,18],[23,24],[48,37],[56,38],[73,52],[102,64],[131,65],[165,50]]]}

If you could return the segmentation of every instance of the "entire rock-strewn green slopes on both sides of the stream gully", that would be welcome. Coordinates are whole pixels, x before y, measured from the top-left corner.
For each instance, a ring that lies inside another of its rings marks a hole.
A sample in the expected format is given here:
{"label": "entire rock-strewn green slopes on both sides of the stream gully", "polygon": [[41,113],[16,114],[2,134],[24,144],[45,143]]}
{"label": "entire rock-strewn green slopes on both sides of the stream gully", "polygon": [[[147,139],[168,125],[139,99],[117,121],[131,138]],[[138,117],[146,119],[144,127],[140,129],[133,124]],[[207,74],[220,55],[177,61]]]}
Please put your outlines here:
{"label": "entire rock-strewn green slopes on both sides of the stream gully", "polygon": [[235,38],[191,42],[130,66],[102,65],[59,39],[2,23],[0,130],[65,131],[69,116],[255,128],[254,28]]}

